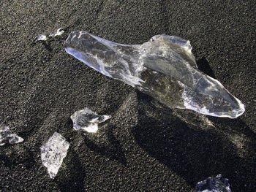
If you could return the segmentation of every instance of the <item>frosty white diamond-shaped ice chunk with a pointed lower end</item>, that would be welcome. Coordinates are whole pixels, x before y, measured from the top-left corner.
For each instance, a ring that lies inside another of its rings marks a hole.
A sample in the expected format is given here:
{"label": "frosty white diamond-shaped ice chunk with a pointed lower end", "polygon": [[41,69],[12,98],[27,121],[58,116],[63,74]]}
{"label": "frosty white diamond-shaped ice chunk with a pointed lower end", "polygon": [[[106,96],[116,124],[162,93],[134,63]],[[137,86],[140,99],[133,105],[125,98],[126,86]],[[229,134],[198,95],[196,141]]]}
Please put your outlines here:
{"label": "frosty white diamond-shaped ice chunk with a pointed lower end", "polygon": [[57,132],[40,147],[42,164],[47,167],[50,178],[53,179],[58,173],[68,148],[69,142]]}

